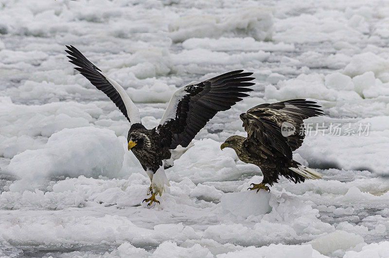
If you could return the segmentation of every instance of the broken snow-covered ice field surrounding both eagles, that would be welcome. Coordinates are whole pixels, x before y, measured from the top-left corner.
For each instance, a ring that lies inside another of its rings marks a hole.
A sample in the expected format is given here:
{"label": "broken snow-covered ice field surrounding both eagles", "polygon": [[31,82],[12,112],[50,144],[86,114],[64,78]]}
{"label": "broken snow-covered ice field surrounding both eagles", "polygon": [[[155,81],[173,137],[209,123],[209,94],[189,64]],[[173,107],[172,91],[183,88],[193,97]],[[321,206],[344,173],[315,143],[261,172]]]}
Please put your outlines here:
{"label": "broken snow-covered ice field surrounding both eagles", "polygon": [[[0,257],[388,257],[384,3],[0,0]],[[147,208],[128,122],[64,45],[123,85],[147,128],[191,81],[245,69],[255,91],[198,133]],[[324,176],[247,192],[260,169],[220,144],[245,135],[240,113],[290,98],[323,106],[294,159]]]}

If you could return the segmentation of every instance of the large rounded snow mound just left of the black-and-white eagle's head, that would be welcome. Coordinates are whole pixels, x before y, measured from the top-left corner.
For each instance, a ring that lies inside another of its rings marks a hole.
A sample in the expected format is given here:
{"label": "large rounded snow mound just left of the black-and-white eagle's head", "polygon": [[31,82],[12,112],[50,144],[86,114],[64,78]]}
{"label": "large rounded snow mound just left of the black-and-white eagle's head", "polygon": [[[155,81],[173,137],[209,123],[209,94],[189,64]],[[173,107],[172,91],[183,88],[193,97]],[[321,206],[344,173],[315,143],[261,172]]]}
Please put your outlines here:
{"label": "large rounded snow mound just left of the black-and-white eagle's head", "polygon": [[42,149],[16,155],[7,170],[21,178],[115,177],[124,160],[123,144],[108,129],[82,127],[54,133]]}

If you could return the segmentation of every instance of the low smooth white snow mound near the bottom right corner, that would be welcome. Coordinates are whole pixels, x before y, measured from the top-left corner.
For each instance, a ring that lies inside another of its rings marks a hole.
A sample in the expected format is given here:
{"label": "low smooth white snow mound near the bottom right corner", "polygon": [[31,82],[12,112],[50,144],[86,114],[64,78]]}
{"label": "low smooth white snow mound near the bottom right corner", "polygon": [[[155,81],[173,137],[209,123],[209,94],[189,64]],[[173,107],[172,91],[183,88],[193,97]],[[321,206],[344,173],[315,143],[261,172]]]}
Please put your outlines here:
{"label": "low smooth white snow mound near the bottom right corner", "polygon": [[347,250],[364,242],[363,237],[359,235],[343,230],[336,230],[325,236],[307,242],[307,244],[311,244],[315,250],[320,252],[320,254],[329,255],[338,249]]}

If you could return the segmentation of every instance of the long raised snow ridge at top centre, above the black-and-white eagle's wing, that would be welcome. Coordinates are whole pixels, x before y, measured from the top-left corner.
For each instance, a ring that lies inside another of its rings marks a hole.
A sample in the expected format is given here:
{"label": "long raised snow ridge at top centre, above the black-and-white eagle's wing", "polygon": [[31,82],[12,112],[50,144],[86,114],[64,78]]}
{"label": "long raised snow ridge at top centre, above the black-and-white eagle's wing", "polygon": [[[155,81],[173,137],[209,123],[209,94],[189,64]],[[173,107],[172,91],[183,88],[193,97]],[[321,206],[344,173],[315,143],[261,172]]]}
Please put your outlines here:
{"label": "long raised snow ridge at top centre, above the black-and-white eagle's wing", "polygon": [[271,40],[273,15],[269,8],[250,7],[233,9],[227,15],[183,16],[172,21],[169,36],[174,42],[182,42],[188,38],[220,37],[243,33],[256,40]]}

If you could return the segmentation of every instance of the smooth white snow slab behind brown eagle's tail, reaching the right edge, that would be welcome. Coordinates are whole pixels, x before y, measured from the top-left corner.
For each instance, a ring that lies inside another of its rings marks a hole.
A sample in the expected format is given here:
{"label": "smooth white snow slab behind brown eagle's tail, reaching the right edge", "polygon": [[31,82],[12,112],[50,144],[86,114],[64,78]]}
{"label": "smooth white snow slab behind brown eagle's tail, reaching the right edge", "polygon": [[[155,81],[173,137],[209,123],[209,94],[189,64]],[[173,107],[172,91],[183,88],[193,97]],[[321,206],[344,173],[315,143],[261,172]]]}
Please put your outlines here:
{"label": "smooth white snow slab behind brown eagle's tail, reaching the right edge", "polygon": [[[374,120],[364,119],[356,124],[371,124],[369,135],[321,135],[306,137],[298,153],[313,167],[338,167],[346,170],[369,170],[388,175],[386,162],[389,139],[388,130],[373,131]],[[380,124],[389,124],[389,117],[380,117]],[[347,125],[343,127],[347,128]],[[356,129],[358,126],[356,126]],[[326,130],[325,133],[328,133]],[[320,132],[321,133],[321,132]],[[325,147],[323,147],[325,146]],[[331,147],[329,147],[331,146]]]}

